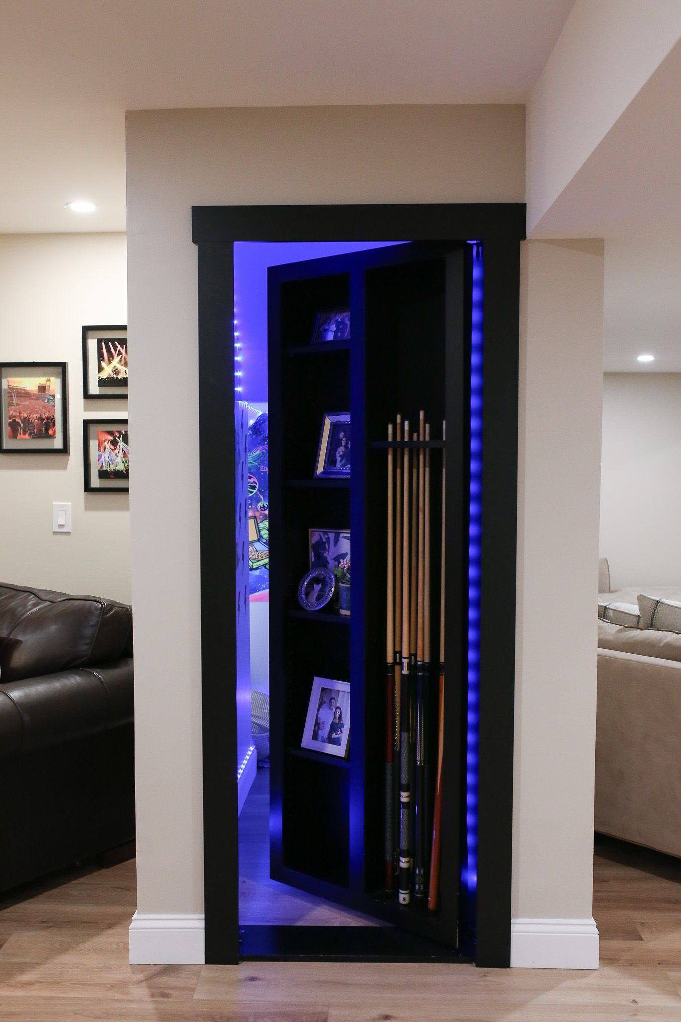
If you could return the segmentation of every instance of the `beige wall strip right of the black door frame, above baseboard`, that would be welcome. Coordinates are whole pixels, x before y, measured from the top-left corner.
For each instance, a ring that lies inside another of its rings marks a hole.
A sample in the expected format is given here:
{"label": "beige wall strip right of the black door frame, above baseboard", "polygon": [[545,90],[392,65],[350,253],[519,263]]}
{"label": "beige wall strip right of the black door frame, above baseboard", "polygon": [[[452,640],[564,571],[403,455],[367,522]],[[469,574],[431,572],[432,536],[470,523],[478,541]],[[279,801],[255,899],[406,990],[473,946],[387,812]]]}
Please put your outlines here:
{"label": "beige wall strip right of the black door frame, above baseboard", "polygon": [[526,242],[513,915],[591,917],[603,257]]}

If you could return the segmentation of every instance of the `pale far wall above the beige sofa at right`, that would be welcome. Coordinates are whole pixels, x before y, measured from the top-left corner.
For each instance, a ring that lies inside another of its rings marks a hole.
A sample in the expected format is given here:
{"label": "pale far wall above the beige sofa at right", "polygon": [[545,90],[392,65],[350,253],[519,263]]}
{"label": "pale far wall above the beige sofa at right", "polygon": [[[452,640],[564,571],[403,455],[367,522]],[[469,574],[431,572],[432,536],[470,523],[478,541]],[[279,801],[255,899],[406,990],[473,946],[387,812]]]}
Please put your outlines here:
{"label": "pale far wall above the beige sofa at right", "polygon": [[611,586],[681,582],[681,373],[605,373],[600,554]]}

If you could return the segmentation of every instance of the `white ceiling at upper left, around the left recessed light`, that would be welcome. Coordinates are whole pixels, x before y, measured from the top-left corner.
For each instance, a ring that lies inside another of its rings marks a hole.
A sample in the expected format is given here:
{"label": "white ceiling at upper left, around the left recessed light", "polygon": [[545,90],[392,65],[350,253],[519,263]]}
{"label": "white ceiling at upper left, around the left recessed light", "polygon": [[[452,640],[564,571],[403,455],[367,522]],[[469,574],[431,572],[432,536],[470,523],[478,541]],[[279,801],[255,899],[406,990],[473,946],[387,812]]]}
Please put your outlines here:
{"label": "white ceiling at upper left, around the left recessed light", "polygon": [[125,230],[126,109],[523,103],[573,2],[0,0],[0,232]]}

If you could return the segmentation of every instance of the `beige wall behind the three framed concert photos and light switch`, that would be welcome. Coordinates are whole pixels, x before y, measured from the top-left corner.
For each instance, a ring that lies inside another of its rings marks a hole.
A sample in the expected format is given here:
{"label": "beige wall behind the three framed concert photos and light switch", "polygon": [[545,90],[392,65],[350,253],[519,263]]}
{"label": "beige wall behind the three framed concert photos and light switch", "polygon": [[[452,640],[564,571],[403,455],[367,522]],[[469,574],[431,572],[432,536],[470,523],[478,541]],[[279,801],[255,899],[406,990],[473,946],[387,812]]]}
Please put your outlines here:
{"label": "beige wall behind the three framed concert photos and light switch", "polygon": [[[0,456],[0,578],[130,602],[126,494],[86,494],[83,419],[127,402],[83,403],[84,324],[125,323],[125,234],[0,235],[0,361],[68,363],[68,455]],[[72,532],[52,532],[52,502]]]}

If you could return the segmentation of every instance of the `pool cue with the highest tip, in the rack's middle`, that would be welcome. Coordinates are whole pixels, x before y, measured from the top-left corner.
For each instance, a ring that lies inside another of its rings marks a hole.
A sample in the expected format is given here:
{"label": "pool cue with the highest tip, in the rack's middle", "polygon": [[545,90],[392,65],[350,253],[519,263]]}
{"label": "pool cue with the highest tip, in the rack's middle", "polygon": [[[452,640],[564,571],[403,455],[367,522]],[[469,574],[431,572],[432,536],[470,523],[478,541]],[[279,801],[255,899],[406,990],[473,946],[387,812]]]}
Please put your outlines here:
{"label": "pool cue with the highest tip, in the rack's middle", "polygon": [[[419,439],[425,439],[424,413],[419,417]],[[417,753],[415,778],[416,835],[414,845],[414,894],[424,897],[426,868],[426,788],[425,788],[425,721],[424,721],[424,637],[425,637],[425,450],[419,449],[419,611],[417,637]]]}

